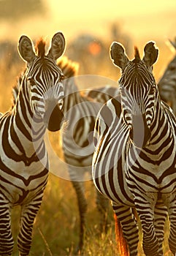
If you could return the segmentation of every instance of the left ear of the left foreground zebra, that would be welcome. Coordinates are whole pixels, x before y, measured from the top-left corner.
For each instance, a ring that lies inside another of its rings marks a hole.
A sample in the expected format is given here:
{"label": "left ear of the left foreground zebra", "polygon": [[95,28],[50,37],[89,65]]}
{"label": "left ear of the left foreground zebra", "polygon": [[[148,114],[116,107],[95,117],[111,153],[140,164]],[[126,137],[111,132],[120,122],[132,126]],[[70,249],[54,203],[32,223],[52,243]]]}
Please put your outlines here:
{"label": "left ear of the left foreground zebra", "polygon": [[20,53],[21,58],[24,61],[30,63],[35,58],[35,53],[33,50],[33,44],[31,39],[26,36],[21,36],[18,42],[18,51]]}

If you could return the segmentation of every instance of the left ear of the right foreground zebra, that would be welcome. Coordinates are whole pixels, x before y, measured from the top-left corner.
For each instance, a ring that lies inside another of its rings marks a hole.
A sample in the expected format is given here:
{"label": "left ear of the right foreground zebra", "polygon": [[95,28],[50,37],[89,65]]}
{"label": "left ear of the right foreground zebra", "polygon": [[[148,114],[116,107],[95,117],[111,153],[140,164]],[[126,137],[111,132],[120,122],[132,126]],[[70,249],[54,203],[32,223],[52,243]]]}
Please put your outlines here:
{"label": "left ear of the right foreground zebra", "polygon": [[110,57],[115,66],[120,67],[120,69],[124,69],[129,61],[123,46],[118,42],[112,42],[110,46]]}

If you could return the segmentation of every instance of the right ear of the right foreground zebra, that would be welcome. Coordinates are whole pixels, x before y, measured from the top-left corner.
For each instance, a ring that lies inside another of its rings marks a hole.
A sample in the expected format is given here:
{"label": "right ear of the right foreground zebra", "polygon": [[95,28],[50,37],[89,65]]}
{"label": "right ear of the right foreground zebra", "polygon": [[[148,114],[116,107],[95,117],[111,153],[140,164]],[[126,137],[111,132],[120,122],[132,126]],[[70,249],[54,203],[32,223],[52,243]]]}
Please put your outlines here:
{"label": "right ear of the right foreground zebra", "polygon": [[148,67],[151,67],[158,58],[158,49],[155,47],[155,42],[148,42],[144,48],[145,55],[143,61]]}

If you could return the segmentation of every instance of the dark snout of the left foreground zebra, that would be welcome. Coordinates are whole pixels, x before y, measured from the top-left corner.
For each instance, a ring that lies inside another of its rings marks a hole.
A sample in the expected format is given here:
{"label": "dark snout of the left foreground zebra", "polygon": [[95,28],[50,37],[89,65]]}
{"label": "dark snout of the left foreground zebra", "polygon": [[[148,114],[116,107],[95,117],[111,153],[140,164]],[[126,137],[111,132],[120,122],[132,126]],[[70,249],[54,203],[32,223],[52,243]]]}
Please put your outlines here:
{"label": "dark snout of the left foreground zebra", "polygon": [[56,102],[47,102],[43,120],[50,132],[56,132],[61,129],[64,121],[64,114],[61,111],[61,106]]}

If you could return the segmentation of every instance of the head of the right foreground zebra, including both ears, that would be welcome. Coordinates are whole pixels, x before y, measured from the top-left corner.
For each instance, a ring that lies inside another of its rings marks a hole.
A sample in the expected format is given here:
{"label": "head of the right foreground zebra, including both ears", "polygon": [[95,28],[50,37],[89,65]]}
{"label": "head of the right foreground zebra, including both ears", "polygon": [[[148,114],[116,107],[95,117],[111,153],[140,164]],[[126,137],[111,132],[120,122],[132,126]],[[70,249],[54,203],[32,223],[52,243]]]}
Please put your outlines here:
{"label": "head of the right foreground zebra, including both ears", "polygon": [[156,109],[156,82],[152,66],[158,57],[158,49],[153,42],[148,42],[144,53],[140,59],[139,50],[135,48],[134,59],[129,61],[118,42],[113,42],[110,48],[111,59],[122,72],[119,86],[123,121],[129,126],[131,140],[139,148],[150,140],[150,126]]}

